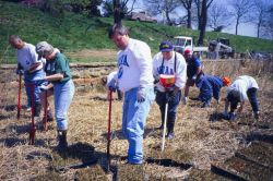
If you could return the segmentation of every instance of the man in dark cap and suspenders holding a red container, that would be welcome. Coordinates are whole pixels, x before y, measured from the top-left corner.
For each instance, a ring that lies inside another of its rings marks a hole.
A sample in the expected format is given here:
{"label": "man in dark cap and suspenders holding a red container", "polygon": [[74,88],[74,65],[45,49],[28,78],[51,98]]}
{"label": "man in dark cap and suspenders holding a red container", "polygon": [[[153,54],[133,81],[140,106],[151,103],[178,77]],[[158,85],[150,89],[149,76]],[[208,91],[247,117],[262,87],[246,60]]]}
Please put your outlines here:
{"label": "man in dark cap and suspenders holding a red container", "polygon": [[[168,102],[167,111],[167,137],[174,138],[174,126],[176,112],[181,99],[181,88],[186,84],[187,64],[180,53],[174,51],[170,41],[163,41],[159,51],[153,59],[153,75],[156,82],[156,102],[162,113],[162,125],[164,126],[165,106]],[[168,75],[168,76],[166,76]],[[164,77],[171,79],[164,80]]]}

